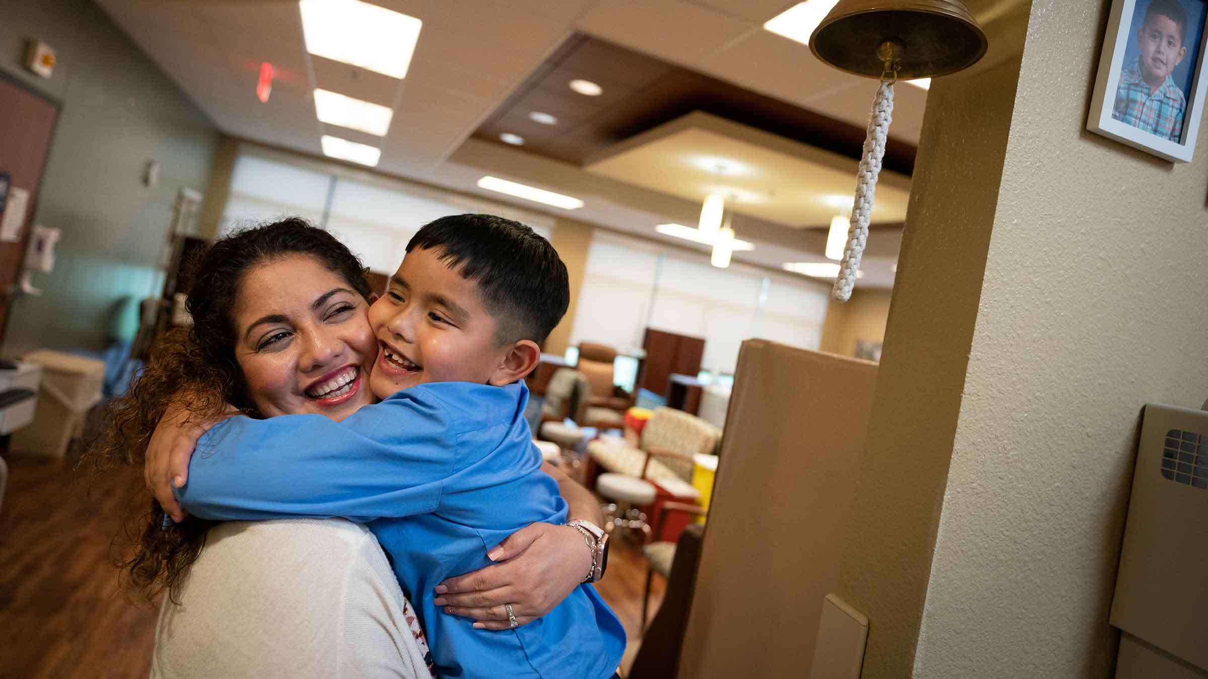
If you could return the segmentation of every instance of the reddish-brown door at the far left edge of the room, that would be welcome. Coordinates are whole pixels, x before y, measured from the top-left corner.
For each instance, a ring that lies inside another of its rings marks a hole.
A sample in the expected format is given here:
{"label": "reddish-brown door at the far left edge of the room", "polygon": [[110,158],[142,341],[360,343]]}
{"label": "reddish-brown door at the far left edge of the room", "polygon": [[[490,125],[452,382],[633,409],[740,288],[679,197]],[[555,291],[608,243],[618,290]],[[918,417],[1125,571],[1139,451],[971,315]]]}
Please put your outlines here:
{"label": "reddish-brown door at the far left edge of the room", "polygon": [[[0,342],[8,326],[12,286],[21,274],[29,225],[37,205],[37,193],[51,150],[59,104],[0,71],[0,173],[8,173],[13,188],[29,191],[21,240],[0,242]],[[6,208],[7,209],[7,208]]]}

